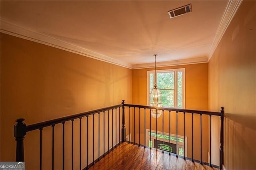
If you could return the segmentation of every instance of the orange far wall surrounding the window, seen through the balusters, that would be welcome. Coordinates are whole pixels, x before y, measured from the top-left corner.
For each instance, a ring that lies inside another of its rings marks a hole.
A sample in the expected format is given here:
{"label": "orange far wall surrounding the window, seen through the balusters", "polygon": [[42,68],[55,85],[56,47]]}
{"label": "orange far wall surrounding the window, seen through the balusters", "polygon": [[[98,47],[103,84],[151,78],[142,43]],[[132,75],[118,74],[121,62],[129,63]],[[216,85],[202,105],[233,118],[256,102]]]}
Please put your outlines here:
{"label": "orange far wall surrounding the window, seen through the balusters", "polygon": [[[159,67],[157,69],[186,68],[186,109],[208,110],[208,64],[180,65],[174,67]],[[134,69],[132,72],[132,101],[134,104],[147,105],[147,71],[151,69]],[[138,113],[136,113],[138,114]],[[133,116],[134,117],[134,116]],[[132,117],[132,123],[133,118]],[[178,113],[178,135],[184,134],[184,115]],[[185,117],[185,136],[188,136],[188,157],[192,157],[192,116]],[[138,116],[136,122],[136,142],[138,140]],[[208,162],[209,121],[207,116],[202,117],[202,159]],[[144,111],[141,111],[140,141],[144,144]],[[146,128],[150,128],[149,113],[146,115]],[[133,132],[133,126],[131,127]],[[156,119],[152,118],[152,129],[156,130]],[[158,119],[158,131],[162,131],[162,116]],[[164,132],[169,133],[169,113],[164,113]],[[171,133],[176,134],[176,113],[171,115]],[[132,137],[133,140],[134,137]],[[194,115],[194,159],[200,160],[200,116]]]}

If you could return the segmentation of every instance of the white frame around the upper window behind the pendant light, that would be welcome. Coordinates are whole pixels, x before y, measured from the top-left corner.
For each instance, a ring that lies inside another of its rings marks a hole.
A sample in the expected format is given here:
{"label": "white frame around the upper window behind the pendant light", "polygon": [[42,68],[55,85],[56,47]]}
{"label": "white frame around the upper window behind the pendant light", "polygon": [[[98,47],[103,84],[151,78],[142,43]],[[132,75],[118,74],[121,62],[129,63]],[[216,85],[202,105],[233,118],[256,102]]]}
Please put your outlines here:
{"label": "white frame around the upper window behind the pendant light", "polygon": [[[174,107],[173,108],[178,108],[178,71],[182,71],[182,108],[180,109],[185,109],[186,103],[185,103],[185,68],[179,68],[179,69],[164,69],[164,70],[156,70],[157,73],[167,73],[167,72],[175,72],[174,73]],[[147,71],[147,103],[150,105],[150,73],[155,73],[155,70],[148,70]],[[155,76],[155,75],[154,75]],[[155,79],[154,79],[155,83]]]}

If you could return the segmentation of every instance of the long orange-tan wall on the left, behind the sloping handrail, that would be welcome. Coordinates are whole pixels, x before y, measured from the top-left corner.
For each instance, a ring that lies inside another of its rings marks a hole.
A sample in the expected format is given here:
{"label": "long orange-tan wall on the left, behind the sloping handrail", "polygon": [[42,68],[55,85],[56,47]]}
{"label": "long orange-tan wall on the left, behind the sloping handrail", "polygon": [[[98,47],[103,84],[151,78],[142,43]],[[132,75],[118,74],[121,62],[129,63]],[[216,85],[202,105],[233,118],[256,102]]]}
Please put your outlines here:
{"label": "long orange-tan wall on the left, behind the sloping handrail", "polygon": [[[132,103],[132,70],[1,33],[1,161],[15,160],[13,125],[17,118],[26,119],[25,123],[30,125],[120,104],[122,99]],[[89,136],[92,136],[90,119],[92,120],[92,116],[89,117],[88,127]],[[98,120],[98,115],[95,119]],[[85,123],[86,118],[83,118],[83,150],[86,146]],[[94,126],[97,130],[98,124]],[[70,127],[71,122],[65,123],[67,169],[71,167]],[[103,129],[102,123],[100,128]],[[75,120],[75,169],[79,166],[78,129],[79,120]],[[102,130],[100,133],[103,134]],[[62,124],[56,125],[55,134],[55,164],[62,164]],[[44,128],[43,169],[51,167],[51,135],[51,127]],[[97,135],[98,133],[95,134]],[[103,148],[102,144],[100,148]],[[28,132],[25,138],[25,151],[26,169],[38,169],[35,164],[39,164],[39,130]],[[96,149],[95,155],[98,156],[97,151]],[[82,167],[86,164],[84,153]],[[92,161],[91,153],[92,151],[89,153],[89,162]],[[55,168],[62,169],[62,166]]]}

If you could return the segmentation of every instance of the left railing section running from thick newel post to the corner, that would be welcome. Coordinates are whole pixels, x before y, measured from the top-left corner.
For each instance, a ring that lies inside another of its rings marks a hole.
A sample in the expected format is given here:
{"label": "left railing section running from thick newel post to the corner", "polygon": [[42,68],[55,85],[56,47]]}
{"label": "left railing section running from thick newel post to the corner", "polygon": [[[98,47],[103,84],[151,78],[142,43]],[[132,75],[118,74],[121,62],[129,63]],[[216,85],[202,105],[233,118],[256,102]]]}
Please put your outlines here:
{"label": "left railing section running from thick newel post to the corner", "polygon": [[[74,120],[75,119],[79,119],[79,132],[80,132],[80,135],[79,135],[79,148],[80,148],[80,170],[82,170],[82,160],[81,160],[81,154],[82,154],[82,151],[81,151],[81,148],[82,148],[82,134],[81,134],[81,131],[82,131],[82,119],[86,119],[86,167],[84,169],[88,169],[90,168],[90,166],[92,166],[93,164],[95,164],[98,160],[100,160],[100,158],[104,157],[108,152],[110,152],[110,149],[113,150],[117,145],[120,144],[120,119],[122,117],[122,115],[120,115],[120,108],[122,107],[122,105],[114,105],[114,106],[111,106],[111,107],[106,107],[106,108],[103,108],[103,109],[97,109],[97,110],[93,110],[93,111],[88,111],[88,112],[84,112],[84,113],[80,113],[80,114],[76,114],[76,115],[71,115],[71,116],[67,116],[67,117],[62,117],[62,118],[58,118],[58,119],[53,119],[53,120],[50,120],[50,121],[45,121],[45,122],[41,122],[41,123],[36,123],[36,124],[33,124],[33,125],[26,125],[24,123],[24,120],[25,119],[17,119],[16,122],[17,124],[14,125],[14,137],[16,138],[16,161],[20,161],[20,162],[23,162],[24,161],[24,146],[23,146],[23,140],[24,140],[24,136],[26,135],[26,132],[30,132],[32,130],[40,130],[40,146],[39,146],[39,149],[40,149],[40,165],[39,165],[39,169],[42,170],[42,131],[45,127],[52,127],[52,170],[54,170],[54,127],[55,125],[57,124],[62,124],[62,167],[63,167],[63,170],[64,170],[64,167],[65,167],[65,147],[64,147],[64,142],[65,142],[65,123],[68,122],[68,121],[71,121],[72,122],[72,170],[73,170],[73,167],[74,167]],[[95,120],[94,120],[94,115],[98,114],[98,158],[95,160],[94,158],[94,123],[95,123]],[[100,155],[100,115],[103,114],[103,128],[104,128],[104,134],[103,134],[103,142],[106,142],[106,140],[108,140],[108,148],[105,148],[105,144],[104,144],[104,151],[103,151],[103,155]],[[109,120],[109,115],[112,114],[112,121],[110,122]],[[114,121],[113,120],[113,117],[115,116],[116,120]],[[117,120],[117,115],[119,120]],[[89,164],[88,162],[88,118],[89,117],[93,117],[93,146],[90,146],[90,148],[92,147],[93,148],[93,161],[92,163]],[[107,117],[107,118],[106,118]],[[107,122],[107,127],[108,127],[108,134],[105,134],[105,120],[108,120]],[[116,124],[116,128],[114,129],[113,128],[113,123],[115,122]],[[112,123],[112,128],[110,129],[110,123]],[[119,126],[118,126],[118,124]],[[110,138],[109,138],[109,134],[110,134],[110,130],[112,130],[112,145],[110,146]],[[116,142],[115,144],[113,143],[114,140],[114,136],[113,136],[113,131],[115,130],[115,138],[116,138]],[[119,135],[117,136],[117,131],[119,133]],[[108,137],[106,137],[108,136]],[[106,138],[106,139],[105,139]],[[117,141],[118,139],[118,141]],[[105,152],[105,150],[107,149],[107,152]]]}

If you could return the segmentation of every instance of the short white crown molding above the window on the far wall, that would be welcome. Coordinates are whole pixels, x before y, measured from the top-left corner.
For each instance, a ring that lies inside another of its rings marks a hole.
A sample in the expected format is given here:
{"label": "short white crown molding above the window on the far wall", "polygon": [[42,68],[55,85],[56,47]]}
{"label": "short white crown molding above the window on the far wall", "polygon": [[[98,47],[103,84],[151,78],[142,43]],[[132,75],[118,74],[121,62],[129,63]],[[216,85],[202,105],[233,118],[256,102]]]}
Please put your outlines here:
{"label": "short white crown molding above the window on the far wall", "polygon": [[[174,65],[188,65],[188,64],[198,64],[198,63],[207,63],[207,57],[198,57],[198,58],[189,58],[189,59],[180,59],[173,61],[163,61],[157,62],[156,67],[166,67]],[[144,63],[144,64],[134,64],[132,69],[145,69],[155,67],[155,63]]]}

